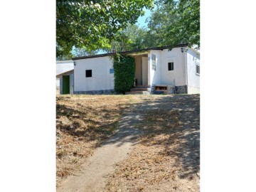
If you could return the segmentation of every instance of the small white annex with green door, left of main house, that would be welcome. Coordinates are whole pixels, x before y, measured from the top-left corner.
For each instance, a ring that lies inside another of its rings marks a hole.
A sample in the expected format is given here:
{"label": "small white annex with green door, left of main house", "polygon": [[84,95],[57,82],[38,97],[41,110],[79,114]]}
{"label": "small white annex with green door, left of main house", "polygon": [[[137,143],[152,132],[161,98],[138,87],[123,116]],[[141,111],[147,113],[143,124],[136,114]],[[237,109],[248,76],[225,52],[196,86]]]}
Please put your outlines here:
{"label": "small white annex with green door, left of main house", "polygon": [[74,61],[56,61],[56,90],[60,94],[73,94],[74,87]]}

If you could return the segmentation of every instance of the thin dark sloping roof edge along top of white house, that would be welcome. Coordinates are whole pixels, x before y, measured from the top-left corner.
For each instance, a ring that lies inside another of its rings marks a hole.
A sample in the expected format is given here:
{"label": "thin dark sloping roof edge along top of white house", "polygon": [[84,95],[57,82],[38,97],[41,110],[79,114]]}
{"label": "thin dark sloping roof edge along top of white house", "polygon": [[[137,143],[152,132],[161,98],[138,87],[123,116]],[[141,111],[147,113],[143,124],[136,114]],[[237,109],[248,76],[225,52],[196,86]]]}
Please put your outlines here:
{"label": "thin dark sloping roof edge along top of white house", "polygon": [[[127,51],[122,51],[118,52],[119,54],[128,54],[128,53],[137,53],[137,52],[142,52],[146,50],[164,50],[166,48],[181,48],[188,46],[188,44],[179,44],[176,46],[162,46],[162,47],[156,47],[156,48],[142,48],[142,49],[136,49],[136,50],[127,50]],[[80,60],[80,59],[86,59],[86,58],[100,58],[100,57],[106,57],[110,55],[116,55],[117,53],[104,53],[104,54],[99,54],[99,55],[90,55],[90,56],[84,56],[84,57],[77,57],[77,58],[72,58],[72,60]]]}

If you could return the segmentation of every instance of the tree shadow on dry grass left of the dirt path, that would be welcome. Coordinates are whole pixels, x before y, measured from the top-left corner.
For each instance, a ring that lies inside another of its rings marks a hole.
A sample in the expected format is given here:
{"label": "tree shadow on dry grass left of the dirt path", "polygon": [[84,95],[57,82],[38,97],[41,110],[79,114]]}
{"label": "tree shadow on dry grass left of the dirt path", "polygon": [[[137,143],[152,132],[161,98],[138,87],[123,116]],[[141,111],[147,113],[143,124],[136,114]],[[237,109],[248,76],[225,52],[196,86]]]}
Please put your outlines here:
{"label": "tree shadow on dry grass left of the dirt path", "polygon": [[[87,111],[90,111],[90,114]],[[85,142],[105,140],[112,135],[114,129],[117,129],[118,119],[104,122],[102,122],[102,119],[117,117],[115,114],[119,111],[104,109],[102,112],[92,107],[87,107],[87,110],[76,110],[73,107],[57,104],[56,128],[60,129],[60,131],[65,134],[78,137]],[[99,116],[99,118],[90,118],[92,114],[95,115],[95,117]],[[60,117],[66,117],[69,123],[63,124],[63,122],[59,120]]]}

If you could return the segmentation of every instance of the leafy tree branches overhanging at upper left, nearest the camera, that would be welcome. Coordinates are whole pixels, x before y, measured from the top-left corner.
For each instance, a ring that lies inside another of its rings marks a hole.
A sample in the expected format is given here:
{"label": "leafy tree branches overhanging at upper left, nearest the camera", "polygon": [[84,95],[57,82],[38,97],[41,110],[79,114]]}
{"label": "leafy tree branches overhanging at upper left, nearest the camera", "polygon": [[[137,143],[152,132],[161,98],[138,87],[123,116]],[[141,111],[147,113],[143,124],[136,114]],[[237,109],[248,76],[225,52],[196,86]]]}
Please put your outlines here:
{"label": "leafy tree branches overhanging at upper left, nearest the camera", "polygon": [[73,46],[88,51],[110,48],[117,32],[151,9],[153,0],[56,0],[56,54]]}

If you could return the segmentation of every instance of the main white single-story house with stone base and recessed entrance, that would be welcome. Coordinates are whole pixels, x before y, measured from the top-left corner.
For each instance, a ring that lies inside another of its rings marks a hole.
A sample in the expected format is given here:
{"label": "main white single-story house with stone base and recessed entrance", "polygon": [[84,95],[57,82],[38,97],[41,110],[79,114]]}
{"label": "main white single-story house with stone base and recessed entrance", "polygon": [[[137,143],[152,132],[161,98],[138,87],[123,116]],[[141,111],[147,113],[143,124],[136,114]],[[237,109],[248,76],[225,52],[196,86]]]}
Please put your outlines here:
{"label": "main white single-story house with stone base and recessed entrance", "polygon": [[[114,68],[111,56],[115,53],[73,58],[74,94],[108,94],[114,90]],[[200,52],[187,44],[140,50],[120,54],[135,58],[137,87],[151,93],[200,92]]]}

